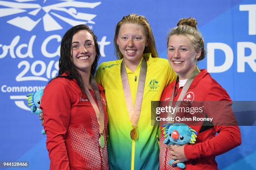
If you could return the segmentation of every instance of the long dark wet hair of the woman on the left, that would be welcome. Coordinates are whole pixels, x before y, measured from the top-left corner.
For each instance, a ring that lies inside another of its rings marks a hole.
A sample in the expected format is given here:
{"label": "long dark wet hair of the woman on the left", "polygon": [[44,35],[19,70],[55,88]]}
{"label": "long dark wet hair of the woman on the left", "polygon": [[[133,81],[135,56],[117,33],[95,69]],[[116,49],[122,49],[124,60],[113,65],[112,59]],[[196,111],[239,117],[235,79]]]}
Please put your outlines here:
{"label": "long dark wet hair of the woman on the left", "polygon": [[[87,25],[77,25],[72,28],[70,28],[63,36],[61,40],[61,49],[60,49],[60,58],[59,58],[59,74],[58,76],[54,77],[53,79],[56,79],[58,77],[65,77],[68,79],[74,79],[77,81],[81,91],[84,92],[84,83],[82,81],[82,76],[77,70],[77,68],[74,65],[73,58],[72,58],[72,38],[73,35],[81,30],[88,31],[94,41],[94,47],[96,51],[95,60],[92,63],[91,66],[91,75],[94,76],[96,69],[97,69],[97,63],[100,58],[100,49],[97,43],[97,37],[96,35],[90,30],[90,28]],[[67,76],[61,76],[63,73],[66,73]],[[52,80],[53,80],[52,79]],[[50,81],[51,82],[51,81]]]}

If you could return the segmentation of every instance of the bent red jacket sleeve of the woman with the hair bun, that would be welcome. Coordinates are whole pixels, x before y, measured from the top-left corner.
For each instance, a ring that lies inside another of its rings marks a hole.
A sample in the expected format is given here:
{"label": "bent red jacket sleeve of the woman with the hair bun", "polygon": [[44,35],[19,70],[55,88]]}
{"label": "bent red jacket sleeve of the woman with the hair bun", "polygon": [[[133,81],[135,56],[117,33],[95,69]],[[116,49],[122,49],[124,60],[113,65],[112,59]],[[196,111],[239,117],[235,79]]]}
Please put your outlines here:
{"label": "bent red jacket sleeve of the woman with the hair bun", "polygon": [[[231,108],[232,101],[216,83],[208,88],[204,103],[208,105],[205,112],[208,117],[213,117],[215,132],[219,134],[210,139],[202,138],[202,142],[195,145],[185,145],[184,154],[188,160],[220,155],[241,145],[241,133]],[[220,102],[209,102],[213,100]]]}

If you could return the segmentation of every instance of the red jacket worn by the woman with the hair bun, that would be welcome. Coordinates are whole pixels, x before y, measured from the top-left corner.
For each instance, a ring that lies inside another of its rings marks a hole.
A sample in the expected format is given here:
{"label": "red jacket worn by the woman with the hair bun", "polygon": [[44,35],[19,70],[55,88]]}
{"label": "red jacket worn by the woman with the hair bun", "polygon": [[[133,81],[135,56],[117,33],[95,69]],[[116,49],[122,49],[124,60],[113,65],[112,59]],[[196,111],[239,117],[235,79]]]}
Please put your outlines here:
{"label": "red jacket worn by the woman with the hair bun", "polygon": [[[161,101],[169,101],[172,95],[172,90],[175,85],[175,82],[169,84],[163,91],[161,96]],[[177,101],[182,91],[182,87],[179,87],[179,82],[175,87],[174,101]],[[190,101],[227,101],[232,103],[228,93],[216,82],[207,70],[203,69],[201,72],[195,77],[192,84],[190,85],[187,94],[185,95],[184,100]],[[210,102],[209,102],[210,103]],[[224,102],[225,103],[225,102]],[[223,105],[223,104],[222,104]],[[217,106],[221,107],[223,110],[223,117],[225,117],[225,110],[230,111],[230,105],[225,106]],[[219,108],[216,108],[219,109]],[[221,115],[218,115],[218,112],[214,112],[214,108],[207,110],[207,115],[211,115],[212,117],[218,117],[220,120]],[[231,110],[232,112],[232,110]],[[177,114],[178,115],[178,114]],[[160,117],[166,117],[167,113],[161,114]],[[228,115],[226,115],[228,116]],[[229,119],[229,118],[228,118]],[[226,119],[227,120],[227,119]],[[160,124],[163,125],[167,123],[166,121],[161,121]],[[188,159],[185,162],[186,168],[185,170],[213,170],[218,169],[218,165],[215,161],[215,156],[223,154],[228,150],[235,148],[238,145],[241,145],[241,133],[236,125],[212,125],[205,128],[202,125],[190,126],[194,130],[199,133],[197,135],[197,140],[195,144],[185,145],[184,154]],[[219,133],[217,136],[216,133]],[[171,156],[169,154],[170,149],[166,148],[164,142],[164,135],[161,132],[160,138],[160,170],[171,170],[171,169],[179,169],[174,168],[169,165],[169,160],[171,160]]]}

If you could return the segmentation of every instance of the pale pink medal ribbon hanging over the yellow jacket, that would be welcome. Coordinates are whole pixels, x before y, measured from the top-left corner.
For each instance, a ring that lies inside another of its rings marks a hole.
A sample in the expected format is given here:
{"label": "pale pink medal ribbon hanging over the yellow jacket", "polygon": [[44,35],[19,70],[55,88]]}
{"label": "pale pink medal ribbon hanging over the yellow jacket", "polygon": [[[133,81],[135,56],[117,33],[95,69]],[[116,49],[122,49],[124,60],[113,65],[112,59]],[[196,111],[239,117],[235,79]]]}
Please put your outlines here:
{"label": "pale pink medal ribbon hanging over the yellow jacket", "polygon": [[124,60],[121,62],[120,72],[121,72],[123,92],[125,95],[125,101],[126,101],[129,117],[133,127],[137,127],[138,120],[141,114],[141,105],[143,100],[144,86],[145,86],[145,80],[146,80],[146,74],[147,74],[147,62],[145,58],[143,58],[141,62],[141,70],[140,70],[140,75],[138,80],[138,87],[137,87],[136,100],[135,100],[134,107],[133,107],[131,89],[130,89],[130,85],[127,77]]}

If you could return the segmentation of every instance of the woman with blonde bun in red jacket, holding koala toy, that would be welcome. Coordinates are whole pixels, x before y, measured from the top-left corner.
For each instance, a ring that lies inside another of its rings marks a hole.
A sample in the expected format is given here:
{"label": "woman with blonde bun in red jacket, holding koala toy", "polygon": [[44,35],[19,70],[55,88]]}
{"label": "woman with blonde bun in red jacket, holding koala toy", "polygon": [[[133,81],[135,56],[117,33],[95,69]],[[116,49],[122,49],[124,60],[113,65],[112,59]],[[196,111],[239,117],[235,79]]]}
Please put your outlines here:
{"label": "woman with blonde bun in red jacket, holding koala toy", "polygon": [[[175,167],[179,162],[184,162],[186,169],[218,169],[215,156],[241,144],[241,133],[232,116],[233,112],[230,108],[232,101],[228,93],[212,79],[207,70],[199,70],[197,67],[197,61],[205,57],[204,44],[194,18],[181,19],[177,27],[169,33],[167,58],[178,77],[176,82],[172,82],[165,88],[161,101],[182,101],[183,106],[183,103],[186,104],[187,101],[190,103],[204,101],[203,103],[208,106],[204,108],[205,118],[211,117],[213,120],[212,122],[198,121],[194,122],[196,124],[194,126],[189,125],[198,133],[194,145],[171,145],[168,147],[164,144],[165,138],[161,133],[160,170],[179,169]],[[208,101],[221,102],[216,107],[216,102]],[[169,105],[174,107],[175,105],[172,103],[177,105],[178,102],[170,102]],[[192,117],[190,113],[187,114],[187,117]],[[167,117],[167,114],[162,113],[160,117]],[[186,115],[178,112],[175,117],[174,113],[173,122],[181,120],[177,117],[186,117]],[[231,119],[229,119],[230,117]],[[221,122],[227,119],[230,121],[229,123]],[[165,123],[167,122],[160,122],[161,125]],[[189,124],[188,121],[187,124]],[[215,136],[216,133],[219,134]],[[169,165],[171,159],[176,160],[172,163],[174,166]]]}

